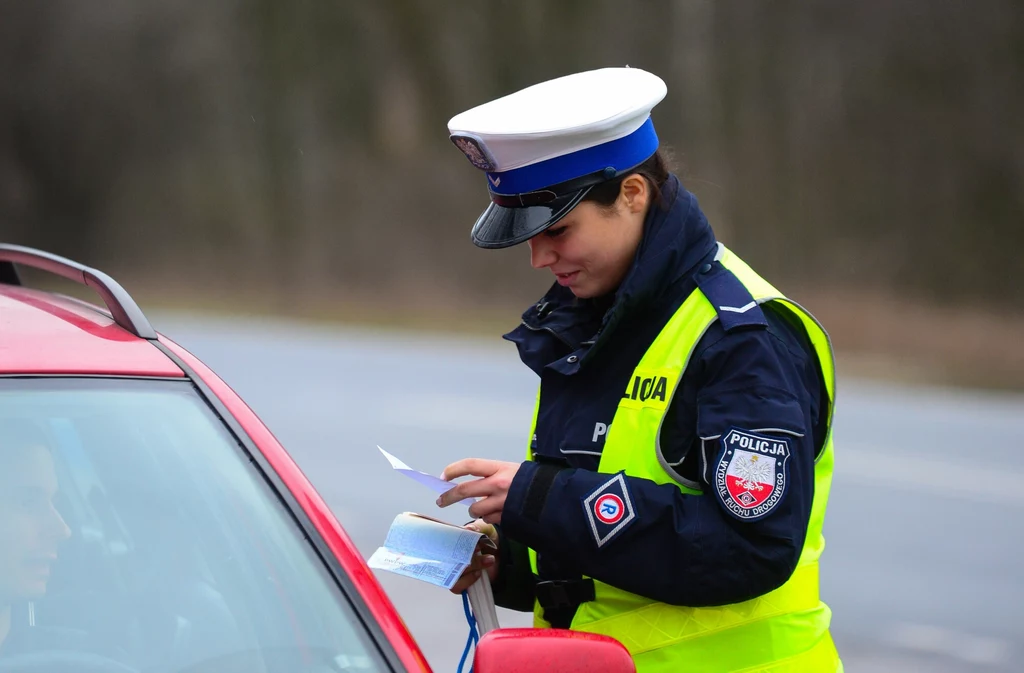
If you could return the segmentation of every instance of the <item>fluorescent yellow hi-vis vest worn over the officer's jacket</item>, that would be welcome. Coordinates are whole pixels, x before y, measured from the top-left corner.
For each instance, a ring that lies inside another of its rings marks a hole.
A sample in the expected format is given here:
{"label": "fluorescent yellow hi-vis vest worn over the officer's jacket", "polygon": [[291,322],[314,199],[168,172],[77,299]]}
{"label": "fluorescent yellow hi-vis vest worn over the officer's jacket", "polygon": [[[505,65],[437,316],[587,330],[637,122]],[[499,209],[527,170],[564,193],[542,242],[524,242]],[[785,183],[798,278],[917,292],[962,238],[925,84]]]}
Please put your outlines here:
{"label": "fluorescent yellow hi-vis vest worn over the officer's jacket", "polygon": [[[821,365],[828,392],[828,431],[814,467],[814,500],[807,539],[797,570],[778,589],[740,603],[716,607],[681,607],[644,598],[594,581],[595,600],[580,605],[570,628],[611,636],[626,645],[640,673],[834,673],[843,670],[828,625],[831,611],[818,598],[818,557],[824,548],[821,524],[833,473],[831,408],[836,368],[831,344],[806,310],[787,300],[741,259],[724,247],[719,261],[745,286],[759,303],[776,301],[798,316]],[[599,472],[625,471],[657,483],[674,483],[695,496],[699,491],[678,483],[663,467],[655,447],[675,386],[708,328],[718,320],[699,289],[686,298],[644,353],[634,373],[642,379],[664,376],[671,386],[664,397],[624,397],[605,437]],[[538,405],[540,393],[538,393]],[[537,414],[534,416],[534,428]],[[532,436],[534,431],[530,431]],[[527,449],[527,459],[532,455]],[[537,554],[529,552],[534,573]],[[637,559],[637,572],[642,572]],[[700,578],[681,581],[699,582]],[[550,627],[535,604],[534,622]]]}

